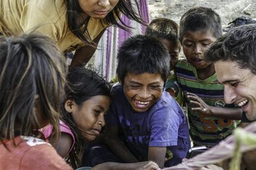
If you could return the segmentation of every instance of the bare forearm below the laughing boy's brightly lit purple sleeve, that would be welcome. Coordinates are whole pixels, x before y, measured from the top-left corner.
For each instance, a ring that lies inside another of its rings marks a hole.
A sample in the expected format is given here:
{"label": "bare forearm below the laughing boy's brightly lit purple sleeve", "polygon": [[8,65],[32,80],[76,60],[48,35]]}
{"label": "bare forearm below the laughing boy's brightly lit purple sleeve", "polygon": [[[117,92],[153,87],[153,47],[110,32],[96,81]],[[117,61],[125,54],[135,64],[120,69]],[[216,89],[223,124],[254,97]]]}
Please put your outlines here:
{"label": "bare forearm below the laughing boy's brightly lit purple sleeve", "polygon": [[166,147],[148,147],[148,161],[153,161],[163,168],[165,153]]}

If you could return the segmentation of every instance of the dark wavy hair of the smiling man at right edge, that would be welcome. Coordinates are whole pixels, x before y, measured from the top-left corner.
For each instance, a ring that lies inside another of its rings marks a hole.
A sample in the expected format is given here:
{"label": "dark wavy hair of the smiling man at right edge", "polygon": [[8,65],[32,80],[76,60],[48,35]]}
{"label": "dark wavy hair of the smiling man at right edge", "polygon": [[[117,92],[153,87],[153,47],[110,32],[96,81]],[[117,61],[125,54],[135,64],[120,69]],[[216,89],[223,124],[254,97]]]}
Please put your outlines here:
{"label": "dark wavy hair of the smiling man at right edge", "polygon": [[256,24],[242,25],[224,34],[205,52],[208,62],[236,62],[256,75]]}

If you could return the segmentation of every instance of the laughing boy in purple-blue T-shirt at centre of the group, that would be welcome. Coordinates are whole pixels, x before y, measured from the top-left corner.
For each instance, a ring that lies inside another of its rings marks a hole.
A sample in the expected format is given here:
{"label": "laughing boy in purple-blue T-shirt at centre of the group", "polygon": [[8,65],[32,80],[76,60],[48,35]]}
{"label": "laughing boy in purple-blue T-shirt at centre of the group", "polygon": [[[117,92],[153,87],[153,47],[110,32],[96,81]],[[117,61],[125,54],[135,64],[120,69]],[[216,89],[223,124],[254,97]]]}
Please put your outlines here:
{"label": "laughing boy in purple-blue T-shirt at centre of the group", "polygon": [[117,55],[121,84],[112,89],[105,142],[122,161],[154,161],[160,168],[181,163],[190,148],[187,119],[164,91],[170,57],[155,38],[127,39]]}

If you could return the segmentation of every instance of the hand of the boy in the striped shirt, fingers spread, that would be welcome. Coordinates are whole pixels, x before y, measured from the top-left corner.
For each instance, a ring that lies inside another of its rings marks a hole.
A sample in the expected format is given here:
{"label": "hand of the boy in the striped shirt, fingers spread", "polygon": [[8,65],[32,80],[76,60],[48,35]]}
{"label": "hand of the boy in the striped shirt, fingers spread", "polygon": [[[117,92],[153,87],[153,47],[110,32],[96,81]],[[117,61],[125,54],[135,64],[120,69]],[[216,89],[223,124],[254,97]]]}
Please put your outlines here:
{"label": "hand of the boy in the striped shirt, fingers spread", "polygon": [[194,111],[200,111],[205,115],[211,115],[211,107],[198,97],[196,94],[187,92],[187,99],[189,99],[189,107]]}

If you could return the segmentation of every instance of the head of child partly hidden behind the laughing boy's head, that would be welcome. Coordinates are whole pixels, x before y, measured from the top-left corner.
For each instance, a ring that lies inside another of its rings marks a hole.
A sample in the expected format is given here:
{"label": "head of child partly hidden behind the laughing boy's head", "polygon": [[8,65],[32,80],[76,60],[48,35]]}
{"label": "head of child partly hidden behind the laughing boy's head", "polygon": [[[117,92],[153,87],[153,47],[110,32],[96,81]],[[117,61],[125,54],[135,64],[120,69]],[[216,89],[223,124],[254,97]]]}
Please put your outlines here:
{"label": "head of child partly hidden behind the laughing boy's head", "polygon": [[149,23],[145,34],[157,38],[167,47],[171,57],[170,69],[173,70],[181,52],[177,23],[168,18],[156,18]]}

